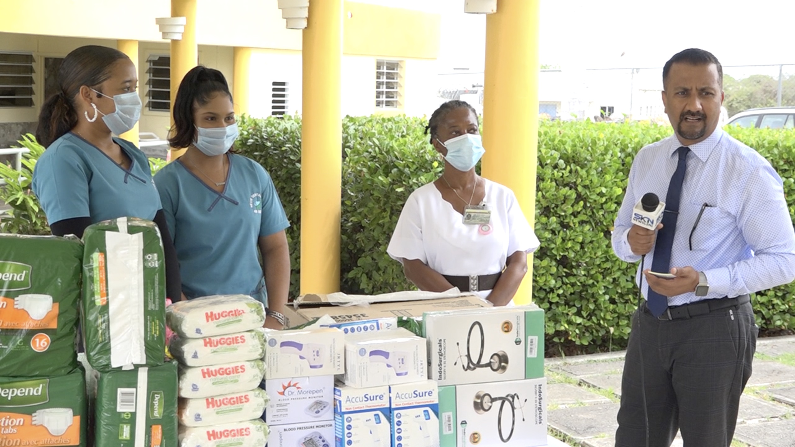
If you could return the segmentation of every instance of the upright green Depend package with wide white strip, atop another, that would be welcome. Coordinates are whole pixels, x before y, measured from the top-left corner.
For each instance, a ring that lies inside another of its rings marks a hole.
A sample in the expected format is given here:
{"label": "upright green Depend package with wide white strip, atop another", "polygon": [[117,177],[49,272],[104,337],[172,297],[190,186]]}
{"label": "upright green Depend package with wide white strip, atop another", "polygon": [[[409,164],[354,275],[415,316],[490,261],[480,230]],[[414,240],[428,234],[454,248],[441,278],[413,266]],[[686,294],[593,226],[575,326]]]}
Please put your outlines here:
{"label": "upright green Depend package with wide white strip, atop another", "polygon": [[149,220],[120,217],[83,234],[83,338],[98,371],[163,364],[165,259]]}

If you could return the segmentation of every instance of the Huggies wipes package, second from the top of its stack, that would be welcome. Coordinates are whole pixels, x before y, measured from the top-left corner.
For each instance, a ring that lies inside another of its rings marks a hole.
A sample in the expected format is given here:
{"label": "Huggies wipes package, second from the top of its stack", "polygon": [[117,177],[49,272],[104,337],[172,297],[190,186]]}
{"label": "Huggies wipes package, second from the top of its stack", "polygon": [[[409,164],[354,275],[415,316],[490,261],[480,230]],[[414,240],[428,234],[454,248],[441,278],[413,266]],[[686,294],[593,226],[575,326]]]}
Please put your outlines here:
{"label": "Huggies wipes package, second from the top of its stack", "polygon": [[265,354],[265,334],[261,328],[222,336],[188,338],[173,336],[169,352],[189,367],[203,367],[241,360],[259,360]]}

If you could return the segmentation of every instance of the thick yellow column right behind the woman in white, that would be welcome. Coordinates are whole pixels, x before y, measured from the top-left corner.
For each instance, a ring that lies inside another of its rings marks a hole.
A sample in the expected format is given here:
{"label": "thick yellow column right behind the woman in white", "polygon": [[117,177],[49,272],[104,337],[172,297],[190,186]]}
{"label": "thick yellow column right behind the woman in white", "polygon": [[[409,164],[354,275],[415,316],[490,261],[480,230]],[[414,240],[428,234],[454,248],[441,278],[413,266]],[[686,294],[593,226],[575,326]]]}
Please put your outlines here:
{"label": "thick yellow column right behind the woman in white", "polygon": [[[514,191],[535,227],[538,146],[538,16],[541,0],[498,0],[486,18],[483,177]],[[541,241],[544,243],[544,241]],[[514,301],[532,299],[533,258]]]}

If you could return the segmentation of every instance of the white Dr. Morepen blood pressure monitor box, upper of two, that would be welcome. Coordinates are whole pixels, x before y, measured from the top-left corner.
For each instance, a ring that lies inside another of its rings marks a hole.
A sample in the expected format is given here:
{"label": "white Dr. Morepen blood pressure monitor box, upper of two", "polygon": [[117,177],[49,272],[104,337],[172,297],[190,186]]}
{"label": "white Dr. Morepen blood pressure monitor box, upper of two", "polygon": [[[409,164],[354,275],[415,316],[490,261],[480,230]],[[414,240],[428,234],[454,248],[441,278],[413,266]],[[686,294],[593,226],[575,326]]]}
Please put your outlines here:
{"label": "white Dr. Morepen blood pressure monitor box, upper of two", "polygon": [[334,420],[334,376],[293,377],[263,381],[270,403],[269,426]]}

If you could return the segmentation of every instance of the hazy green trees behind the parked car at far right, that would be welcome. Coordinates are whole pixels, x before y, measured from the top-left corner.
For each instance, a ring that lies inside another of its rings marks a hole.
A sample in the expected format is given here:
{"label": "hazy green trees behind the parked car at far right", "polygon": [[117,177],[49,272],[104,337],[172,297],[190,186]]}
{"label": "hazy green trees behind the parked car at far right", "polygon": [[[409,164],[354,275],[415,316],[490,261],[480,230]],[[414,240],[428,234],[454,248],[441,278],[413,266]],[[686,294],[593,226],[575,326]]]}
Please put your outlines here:
{"label": "hazy green trees behind the parked car at far right", "polygon": [[[778,77],[751,75],[741,80],[724,75],[723,106],[729,116],[757,107],[775,107],[778,95]],[[795,76],[785,75],[781,81],[781,106],[795,106]]]}

